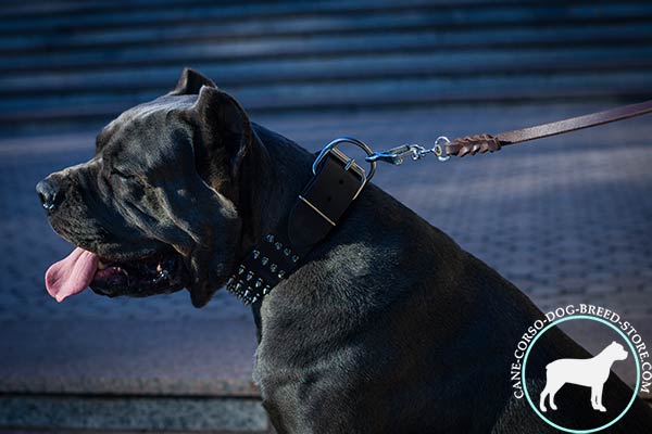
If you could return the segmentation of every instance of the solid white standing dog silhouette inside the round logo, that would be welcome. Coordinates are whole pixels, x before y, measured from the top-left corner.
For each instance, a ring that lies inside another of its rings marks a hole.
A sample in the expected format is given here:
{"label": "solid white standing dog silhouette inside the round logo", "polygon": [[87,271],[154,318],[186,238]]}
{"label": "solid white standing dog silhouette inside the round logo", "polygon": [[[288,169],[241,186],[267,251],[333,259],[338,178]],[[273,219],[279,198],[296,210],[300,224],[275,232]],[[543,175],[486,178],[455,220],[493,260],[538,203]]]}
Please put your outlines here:
{"label": "solid white standing dog silhouette inside the round logo", "polygon": [[546,409],[546,397],[550,397],[550,408],[556,410],[554,395],[566,383],[591,387],[591,407],[593,410],[606,411],[602,405],[602,388],[612,365],[627,358],[623,345],[612,342],[600,354],[590,359],[559,359],[546,367],[546,387],[539,398],[539,409]]}

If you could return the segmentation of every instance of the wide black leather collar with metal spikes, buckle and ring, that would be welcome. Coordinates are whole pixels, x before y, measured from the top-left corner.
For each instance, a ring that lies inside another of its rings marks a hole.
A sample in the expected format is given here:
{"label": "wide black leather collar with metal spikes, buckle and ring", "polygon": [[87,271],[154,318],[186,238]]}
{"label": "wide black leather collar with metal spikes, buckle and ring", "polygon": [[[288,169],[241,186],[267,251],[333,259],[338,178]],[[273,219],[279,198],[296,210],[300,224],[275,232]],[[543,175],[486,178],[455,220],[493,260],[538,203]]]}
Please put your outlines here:
{"label": "wide black leather collar with metal spikes, buckle and ring", "polygon": [[289,214],[287,235],[268,233],[226,284],[246,305],[262,299],[301,265],[301,259],[330,232],[374,175],[375,163],[365,176],[353,159],[336,149],[342,142],[372,153],[366,144],[350,138],[337,139],[322,150],[313,165],[315,175]]}

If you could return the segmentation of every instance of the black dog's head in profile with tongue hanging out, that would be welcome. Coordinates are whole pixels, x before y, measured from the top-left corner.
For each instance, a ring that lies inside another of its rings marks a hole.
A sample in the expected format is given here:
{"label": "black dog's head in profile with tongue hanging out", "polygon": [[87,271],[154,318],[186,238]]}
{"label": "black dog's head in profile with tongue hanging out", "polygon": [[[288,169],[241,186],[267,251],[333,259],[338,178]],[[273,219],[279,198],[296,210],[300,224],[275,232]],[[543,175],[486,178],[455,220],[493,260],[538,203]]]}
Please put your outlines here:
{"label": "black dog's head in profile with tongue hanging out", "polygon": [[188,288],[203,306],[247,248],[242,215],[256,213],[240,181],[252,153],[264,149],[244,111],[191,69],[170,93],[124,112],[90,161],[37,184],[52,228],[77,246],[46,273],[50,294]]}

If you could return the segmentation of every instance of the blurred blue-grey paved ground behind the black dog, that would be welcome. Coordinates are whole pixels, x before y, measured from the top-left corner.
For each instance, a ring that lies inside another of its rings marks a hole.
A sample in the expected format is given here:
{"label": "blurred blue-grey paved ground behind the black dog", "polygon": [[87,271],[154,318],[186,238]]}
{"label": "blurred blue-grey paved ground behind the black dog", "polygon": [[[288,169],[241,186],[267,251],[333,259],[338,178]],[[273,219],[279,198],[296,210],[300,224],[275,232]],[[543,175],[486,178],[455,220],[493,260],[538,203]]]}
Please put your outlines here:
{"label": "blurred blue-grey paved ground behind the black dog", "polygon": [[[449,106],[256,120],[311,150],[342,135],[384,149],[604,107]],[[384,165],[374,181],[514,281],[543,310],[603,305],[652,343],[650,137],[650,118],[639,118],[493,155]],[[249,381],[250,312],[225,291],[199,310],[186,292],[109,299],[89,291],[62,304],[47,295],[43,272],[71,246],[48,227],[34,186],[91,150],[90,132],[0,142],[0,391],[255,396]],[[578,336],[591,345],[592,335]]]}

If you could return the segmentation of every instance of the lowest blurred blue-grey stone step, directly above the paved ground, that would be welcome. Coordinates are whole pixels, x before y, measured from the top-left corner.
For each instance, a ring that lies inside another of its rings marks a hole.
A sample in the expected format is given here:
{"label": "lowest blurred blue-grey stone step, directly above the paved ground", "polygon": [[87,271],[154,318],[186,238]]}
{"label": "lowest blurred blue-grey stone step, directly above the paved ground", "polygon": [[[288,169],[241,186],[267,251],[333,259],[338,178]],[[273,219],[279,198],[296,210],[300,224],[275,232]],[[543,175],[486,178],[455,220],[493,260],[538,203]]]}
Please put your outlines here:
{"label": "lowest blurred blue-grey stone step, directly above the paved ground", "polygon": [[[172,86],[171,86],[172,87]],[[170,87],[168,87],[170,88]],[[226,87],[246,110],[268,111],[362,108],[442,104],[480,101],[573,100],[586,98],[629,98],[644,100],[652,89],[649,72],[564,73],[559,75],[451,76],[405,79],[364,79],[354,82],[330,81],[278,86]],[[104,95],[28,97],[4,100],[0,106],[0,126],[18,119],[102,117],[156,98],[161,92],[138,90]]]}

